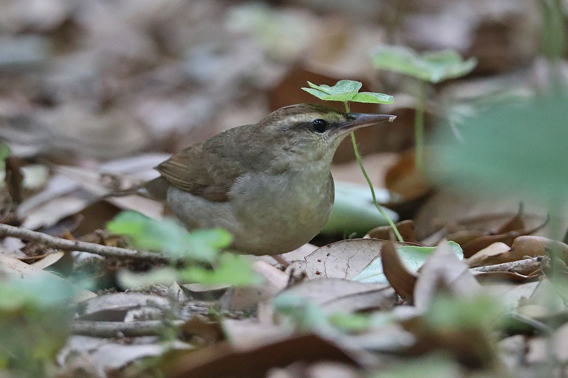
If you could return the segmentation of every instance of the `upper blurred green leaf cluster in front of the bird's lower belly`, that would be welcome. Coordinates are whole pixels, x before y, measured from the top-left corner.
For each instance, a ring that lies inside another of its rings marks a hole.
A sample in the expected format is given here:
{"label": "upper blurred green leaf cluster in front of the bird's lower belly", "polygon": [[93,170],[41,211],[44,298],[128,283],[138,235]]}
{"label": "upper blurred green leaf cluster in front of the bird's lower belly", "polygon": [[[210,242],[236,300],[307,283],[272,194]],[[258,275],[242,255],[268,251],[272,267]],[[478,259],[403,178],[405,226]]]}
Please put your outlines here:
{"label": "upper blurred green leaf cluster in front of the bird's lower belly", "polygon": [[232,237],[222,229],[187,232],[176,221],[154,220],[135,211],[125,211],[108,222],[107,229],[127,236],[140,249],[164,251],[176,257],[210,262]]}

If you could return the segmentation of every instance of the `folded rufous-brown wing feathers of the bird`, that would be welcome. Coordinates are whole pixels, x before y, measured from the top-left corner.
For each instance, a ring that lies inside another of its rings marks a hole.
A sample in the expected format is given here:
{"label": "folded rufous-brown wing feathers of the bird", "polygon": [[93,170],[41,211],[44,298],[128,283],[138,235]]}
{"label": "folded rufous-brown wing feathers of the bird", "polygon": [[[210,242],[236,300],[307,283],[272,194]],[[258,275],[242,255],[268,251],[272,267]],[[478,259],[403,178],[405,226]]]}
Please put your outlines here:
{"label": "folded rufous-brown wing feathers of the bird", "polygon": [[173,186],[211,201],[227,200],[231,183],[219,182],[210,175],[203,157],[203,143],[189,146],[156,167]]}

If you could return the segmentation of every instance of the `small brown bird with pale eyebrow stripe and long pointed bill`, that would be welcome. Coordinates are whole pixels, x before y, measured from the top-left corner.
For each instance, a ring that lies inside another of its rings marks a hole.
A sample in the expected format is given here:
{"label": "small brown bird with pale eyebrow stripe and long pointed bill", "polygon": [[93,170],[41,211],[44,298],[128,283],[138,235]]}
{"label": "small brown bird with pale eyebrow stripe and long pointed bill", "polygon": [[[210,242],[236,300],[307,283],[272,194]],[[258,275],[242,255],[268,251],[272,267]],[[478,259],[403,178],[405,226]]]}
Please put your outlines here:
{"label": "small brown bird with pale eyebrow stripe and long pointed bill", "polygon": [[341,140],[394,118],[318,104],[286,106],[181,150],[137,192],[166,200],[188,229],[228,230],[238,251],[286,253],[316,236],[331,213],[329,167]]}

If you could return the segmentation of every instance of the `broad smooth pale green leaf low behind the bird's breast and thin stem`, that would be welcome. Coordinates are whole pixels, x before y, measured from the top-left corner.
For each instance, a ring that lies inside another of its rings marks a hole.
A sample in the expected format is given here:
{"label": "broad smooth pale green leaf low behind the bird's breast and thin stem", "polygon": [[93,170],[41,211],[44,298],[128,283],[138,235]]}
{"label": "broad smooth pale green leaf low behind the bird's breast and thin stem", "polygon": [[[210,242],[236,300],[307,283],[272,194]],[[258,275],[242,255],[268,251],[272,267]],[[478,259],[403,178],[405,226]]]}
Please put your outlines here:
{"label": "broad smooth pale green leaf low behind the bird's breast and thin stem", "polygon": [[[375,194],[379,203],[385,203],[391,199],[386,189],[375,190]],[[394,211],[387,208],[383,210],[392,220],[395,222],[398,220],[398,214]],[[377,212],[368,187],[337,181],[333,210],[320,232],[346,235],[357,233],[363,236],[370,229],[388,224],[385,217]]]}

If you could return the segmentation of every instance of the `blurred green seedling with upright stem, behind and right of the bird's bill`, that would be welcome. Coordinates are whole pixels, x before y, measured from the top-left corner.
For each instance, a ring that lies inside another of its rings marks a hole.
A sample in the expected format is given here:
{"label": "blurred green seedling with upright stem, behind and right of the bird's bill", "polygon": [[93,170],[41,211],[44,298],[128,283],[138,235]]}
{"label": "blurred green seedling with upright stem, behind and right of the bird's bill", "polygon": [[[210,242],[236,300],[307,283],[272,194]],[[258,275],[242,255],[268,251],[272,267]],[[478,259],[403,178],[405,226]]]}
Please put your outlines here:
{"label": "blurred green seedling with upright stem, behind and right of the bird's bill", "polygon": [[416,169],[424,169],[424,106],[427,83],[439,83],[462,77],[477,65],[475,58],[463,61],[455,51],[425,52],[418,54],[402,46],[379,46],[371,51],[371,60],[378,69],[402,73],[419,80],[417,90],[414,133],[416,143]]}

